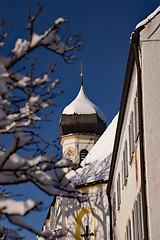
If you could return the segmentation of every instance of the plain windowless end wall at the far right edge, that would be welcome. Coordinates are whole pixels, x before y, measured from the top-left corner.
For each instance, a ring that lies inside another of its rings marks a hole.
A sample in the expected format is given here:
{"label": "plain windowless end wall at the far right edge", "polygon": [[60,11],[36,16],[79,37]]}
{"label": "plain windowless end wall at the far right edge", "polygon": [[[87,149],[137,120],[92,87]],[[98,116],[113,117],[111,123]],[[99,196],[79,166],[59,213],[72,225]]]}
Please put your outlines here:
{"label": "plain windowless end wall at the far right edge", "polygon": [[160,239],[160,14],[141,34],[149,239]]}

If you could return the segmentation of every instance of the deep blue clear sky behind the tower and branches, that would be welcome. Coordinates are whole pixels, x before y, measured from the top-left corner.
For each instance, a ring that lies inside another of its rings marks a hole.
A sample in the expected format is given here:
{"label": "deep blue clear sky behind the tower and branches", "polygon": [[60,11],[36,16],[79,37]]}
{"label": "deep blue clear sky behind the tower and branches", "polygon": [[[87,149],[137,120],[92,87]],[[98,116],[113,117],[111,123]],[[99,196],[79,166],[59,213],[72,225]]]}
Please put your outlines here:
{"label": "deep blue clear sky behind the tower and branches", "polygon": [[[57,62],[52,75],[61,79],[58,90],[64,93],[56,99],[50,122],[42,124],[41,134],[48,141],[59,137],[59,119],[66,105],[77,95],[80,88],[79,64],[83,61],[85,69],[84,87],[87,96],[104,112],[107,124],[119,110],[120,99],[127,64],[130,35],[137,23],[146,18],[159,5],[159,0],[41,0],[44,8],[36,24],[37,33],[43,33],[54,20],[62,16],[69,18],[69,33],[78,33],[82,48],[74,64],[67,64],[61,56],[45,49],[36,51],[37,72],[45,71],[49,64]],[[0,0],[0,17],[7,27],[11,27],[12,38],[5,51],[13,47],[18,37],[27,37],[24,26],[27,11],[36,10],[36,0]],[[35,190],[30,185],[21,186],[25,198],[42,198],[44,210],[27,217],[27,221],[41,229],[51,198]],[[26,239],[36,239],[24,232]]]}

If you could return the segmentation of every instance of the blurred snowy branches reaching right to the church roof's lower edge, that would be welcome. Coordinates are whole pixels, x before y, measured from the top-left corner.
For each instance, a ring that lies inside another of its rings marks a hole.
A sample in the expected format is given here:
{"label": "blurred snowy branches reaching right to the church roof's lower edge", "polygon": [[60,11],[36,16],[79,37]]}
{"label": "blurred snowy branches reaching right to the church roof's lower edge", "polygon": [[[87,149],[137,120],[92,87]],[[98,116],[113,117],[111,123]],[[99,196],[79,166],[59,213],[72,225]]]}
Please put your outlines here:
{"label": "blurred snowy branches reaching right to the church roof's lower edge", "polygon": [[29,159],[14,153],[4,163],[6,152],[0,152],[0,185],[30,181],[51,196],[78,197],[75,188],[66,179],[62,170],[63,167],[75,167],[71,161],[67,159],[57,161],[53,155]]}

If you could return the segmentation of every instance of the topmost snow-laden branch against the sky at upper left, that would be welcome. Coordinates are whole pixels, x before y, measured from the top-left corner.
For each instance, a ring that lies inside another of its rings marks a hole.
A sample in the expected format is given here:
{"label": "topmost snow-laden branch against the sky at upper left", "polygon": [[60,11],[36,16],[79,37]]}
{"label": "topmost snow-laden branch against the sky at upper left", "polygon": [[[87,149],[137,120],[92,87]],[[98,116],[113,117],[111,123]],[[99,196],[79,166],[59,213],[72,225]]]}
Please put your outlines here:
{"label": "topmost snow-laden branch against the sky at upper left", "polygon": [[[29,40],[23,38],[17,39],[14,49],[11,51],[13,56],[6,61],[5,67],[7,69],[14,66],[14,64],[40,46],[62,55],[65,61],[73,60],[75,58],[75,53],[81,46],[78,34],[67,38],[65,41],[60,37],[60,33],[64,30],[64,27],[61,27],[61,25],[67,24],[68,19],[62,17],[58,18],[42,35],[34,32],[34,22],[41,9],[42,6],[39,6],[35,16],[31,16],[29,11],[29,23],[26,26],[26,29],[30,31]],[[67,27],[68,26],[65,26],[65,28]]]}

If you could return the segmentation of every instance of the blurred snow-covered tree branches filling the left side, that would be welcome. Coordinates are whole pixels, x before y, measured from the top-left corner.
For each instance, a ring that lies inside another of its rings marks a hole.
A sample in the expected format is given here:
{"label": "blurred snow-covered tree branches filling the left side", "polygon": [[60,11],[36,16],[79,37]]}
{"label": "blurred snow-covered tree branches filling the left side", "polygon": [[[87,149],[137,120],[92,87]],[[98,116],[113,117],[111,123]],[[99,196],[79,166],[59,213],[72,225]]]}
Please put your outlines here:
{"label": "blurred snow-covered tree branches filling the left side", "polygon": [[[77,34],[71,37],[63,34],[68,28],[68,19],[62,17],[55,20],[43,34],[36,33],[34,24],[41,10],[42,6],[39,3],[35,15],[32,16],[29,9],[29,22],[26,26],[29,37],[18,38],[14,49],[11,49],[7,56],[3,55],[3,46],[7,44],[8,31],[3,30],[5,22],[0,21],[2,52],[0,55],[0,185],[32,182],[48,195],[79,198],[80,194],[62,170],[67,168],[70,171],[72,168],[77,168],[77,165],[68,159],[59,160],[56,155],[46,154],[48,147],[55,146],[55,143],[46,142],[39,135],[39,126],[37,126],[38,122],[52,113],[50,108],[54,104],[54,99],[62,93],[61,90],[56,90],[60,80],[53,79],[52,76],[56,64],[38,75],[34,74],[36,58],[33,59],[28,71],[26,67],[22,67],[19,71],[16,68],[16,64],[20,61],[23,63],[26,56],[28,57],[29,53],[39,47],[44,47],[61,55],[65,61],[70,61],[75,58],[81,46]],[[22,150],[21,154],[19,150]],[[26,150],[32,150],[32,157],[24,156]],[[57,236],[55,233],[40,233],[19,217],[32,210],[38,210],[41,201],[31,199],[17,201],[15,200],[17,194],[14,193],[13,196],[14,199],[0,190],[0,217],[6,216],[12,223],[43,235],[44,238],[53,239]],[[0,225],[0,236],[3,229],[6,228]],[[6,233],[7,230],[1,237],[5,237]]]}

